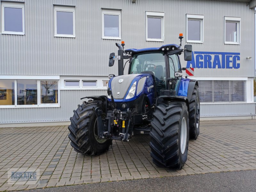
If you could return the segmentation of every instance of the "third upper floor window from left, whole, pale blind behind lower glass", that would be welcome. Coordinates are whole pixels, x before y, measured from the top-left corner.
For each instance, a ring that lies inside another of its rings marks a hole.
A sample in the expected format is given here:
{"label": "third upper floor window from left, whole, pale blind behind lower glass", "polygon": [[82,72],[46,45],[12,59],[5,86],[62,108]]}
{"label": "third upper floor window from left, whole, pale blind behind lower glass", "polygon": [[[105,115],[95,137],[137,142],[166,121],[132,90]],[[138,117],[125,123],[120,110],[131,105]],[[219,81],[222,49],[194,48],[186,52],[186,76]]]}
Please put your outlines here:
{"label": "third upper floor window from left, whole, pale blind behind lower glass", "polygon": [[121,39],[121,10],[102,9],[102,38]]}

